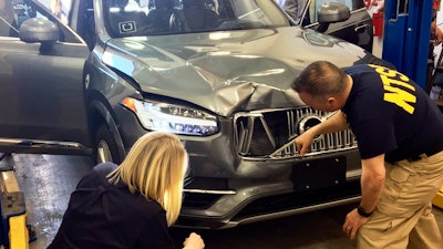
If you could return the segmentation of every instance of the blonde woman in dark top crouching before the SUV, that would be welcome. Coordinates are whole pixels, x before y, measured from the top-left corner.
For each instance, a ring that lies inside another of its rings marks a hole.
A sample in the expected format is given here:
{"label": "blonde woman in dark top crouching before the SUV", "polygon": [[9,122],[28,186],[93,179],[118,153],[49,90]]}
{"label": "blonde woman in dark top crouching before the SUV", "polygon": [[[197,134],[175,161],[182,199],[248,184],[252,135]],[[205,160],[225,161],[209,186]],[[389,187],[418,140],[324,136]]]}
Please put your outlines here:
{"label": "blonde woman in dark top crouching before the SUV", "polygon": [[[120,166],[99,164],[80,180],[48,249],[174,248],[168,227],[182,207],[187,163],[177,136],[140,137]],[[195,232],[183,245],[205,247]]]}

